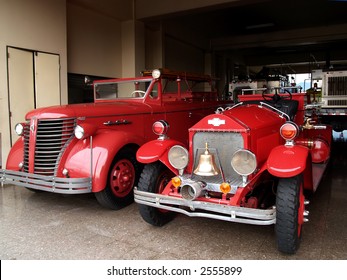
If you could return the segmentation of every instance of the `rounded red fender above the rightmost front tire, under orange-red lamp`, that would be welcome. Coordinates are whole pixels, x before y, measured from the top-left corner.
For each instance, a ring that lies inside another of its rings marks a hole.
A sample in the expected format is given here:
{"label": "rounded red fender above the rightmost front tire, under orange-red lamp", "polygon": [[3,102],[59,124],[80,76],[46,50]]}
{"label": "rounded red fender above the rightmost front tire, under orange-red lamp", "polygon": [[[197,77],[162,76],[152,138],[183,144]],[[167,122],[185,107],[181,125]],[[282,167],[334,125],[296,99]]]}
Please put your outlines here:
{"label": "rounded red fender above the rightmost front tire, under orange-red lamp", "polygon": [[309,149],[303,146],[277,146],[267,159],[267,169],[276,177],[289,178],[306,169]]}

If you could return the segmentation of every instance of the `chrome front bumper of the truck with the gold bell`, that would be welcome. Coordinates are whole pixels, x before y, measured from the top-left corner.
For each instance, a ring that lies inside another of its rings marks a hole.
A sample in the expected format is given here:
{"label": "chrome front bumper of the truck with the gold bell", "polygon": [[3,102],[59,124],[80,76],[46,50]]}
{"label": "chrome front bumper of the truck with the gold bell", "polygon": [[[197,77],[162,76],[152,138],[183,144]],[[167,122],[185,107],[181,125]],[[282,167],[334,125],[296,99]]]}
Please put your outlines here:
{"label": "chrome front bumper of the truck with the gold bell", "polygon": [[[204,201],[191,201],[178,197],[143,192],[137,188],[134,189],[134,196],[136,203],[178,212],[189,217],[204,217],[252,225],[271,225],[276,223],[275,208],[261,210]],[[190,210],[177,206],[188,207]]]}

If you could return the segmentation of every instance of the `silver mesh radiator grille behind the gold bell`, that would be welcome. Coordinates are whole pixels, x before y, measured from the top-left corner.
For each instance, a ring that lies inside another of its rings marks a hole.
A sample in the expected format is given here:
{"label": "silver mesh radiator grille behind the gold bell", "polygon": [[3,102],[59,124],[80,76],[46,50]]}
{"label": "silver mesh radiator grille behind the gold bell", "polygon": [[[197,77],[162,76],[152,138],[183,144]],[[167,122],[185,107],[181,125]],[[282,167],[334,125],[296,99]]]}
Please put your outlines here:
{"label": "silver mesh radiator grille behind the gold bell", "polygon": [[[197,132],[193,137],[194,149],[194,168],[197,166],[200,154],[205,151],[205,143],[207,142],[211,154],[215,154],[217,165],[219,162],[222,166],[224,176],[231,185],[240,184],[240,176],[231,167],[231,157],[239,149],[244,147],[243,138],[240,133],[236,132]],[[219,161],[218,161],[219,159]],[[222,183],[220,175],[208,176],[193,175],[194,180],[202,180],[206,183],[219,184]]]}

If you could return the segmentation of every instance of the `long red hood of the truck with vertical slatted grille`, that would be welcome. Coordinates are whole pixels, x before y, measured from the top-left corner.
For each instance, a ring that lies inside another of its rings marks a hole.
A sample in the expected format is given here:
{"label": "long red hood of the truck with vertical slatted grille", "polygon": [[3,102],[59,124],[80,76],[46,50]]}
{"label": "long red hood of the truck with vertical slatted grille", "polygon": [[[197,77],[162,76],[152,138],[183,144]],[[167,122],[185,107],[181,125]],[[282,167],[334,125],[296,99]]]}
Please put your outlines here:
{"label": "long red hood of the truck with vertical slatted grille", "polygon": [[117,101],[107,103],[85,103],[43,107],[28,112],[26,120],[38,119],[102,117],[111,115],[132,115],[151,112],[151,107],[143,102]]}

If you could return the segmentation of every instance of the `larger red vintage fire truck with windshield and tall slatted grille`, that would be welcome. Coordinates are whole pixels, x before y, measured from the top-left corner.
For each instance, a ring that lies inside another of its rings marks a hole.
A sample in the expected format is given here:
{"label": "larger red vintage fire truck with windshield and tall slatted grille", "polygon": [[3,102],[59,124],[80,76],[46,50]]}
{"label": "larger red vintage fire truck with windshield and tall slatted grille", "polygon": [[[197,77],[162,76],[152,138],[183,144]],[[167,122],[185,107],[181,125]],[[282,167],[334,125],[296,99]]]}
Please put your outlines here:
{"label": "larger red vintage fire truck with windshield and tall slatted grille", "polygon": [[166,69],[142,77],[95,81],[94,103],[39,108],[16,125],[20,136],[0,181],[34,191],[95,193],[119,209],[133,201],[142,164],[137,149],[164,119],[170,136],[188,143],[188,128],[221,104],[209,75]]}

